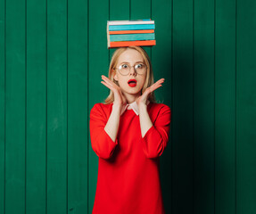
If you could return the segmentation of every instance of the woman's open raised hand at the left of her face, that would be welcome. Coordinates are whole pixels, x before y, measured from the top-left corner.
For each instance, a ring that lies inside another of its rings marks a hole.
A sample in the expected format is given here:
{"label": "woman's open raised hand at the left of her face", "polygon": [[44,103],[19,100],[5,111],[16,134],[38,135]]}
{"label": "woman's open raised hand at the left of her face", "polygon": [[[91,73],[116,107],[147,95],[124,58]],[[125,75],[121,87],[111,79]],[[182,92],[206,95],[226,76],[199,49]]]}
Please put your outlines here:
{"label": "woman's open raised hand at the left of her face", "polygon": [[120,86],[116,85],[114,82],[111,81],[111,79],[105,77],[104,75],[102,75],[102,78],[104,81],[101,81],[101,83],[104,86],[107,86],[108,88],[110,88],[114,94],[113,104],[119,106],[120,108],[122,105],[127,104],[127,99],[122,94]]}

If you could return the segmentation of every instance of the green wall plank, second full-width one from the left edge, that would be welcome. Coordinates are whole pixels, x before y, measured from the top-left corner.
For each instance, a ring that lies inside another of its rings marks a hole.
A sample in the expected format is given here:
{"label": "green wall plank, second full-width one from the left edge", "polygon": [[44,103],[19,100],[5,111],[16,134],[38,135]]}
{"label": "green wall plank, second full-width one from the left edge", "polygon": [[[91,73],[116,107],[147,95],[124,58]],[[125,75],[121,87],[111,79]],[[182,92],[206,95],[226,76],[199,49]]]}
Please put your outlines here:
{"label": "green wall plank, second full-width one from the left edge", "polygon": [[46,3],[27,1],[26,214],[46,209]]}

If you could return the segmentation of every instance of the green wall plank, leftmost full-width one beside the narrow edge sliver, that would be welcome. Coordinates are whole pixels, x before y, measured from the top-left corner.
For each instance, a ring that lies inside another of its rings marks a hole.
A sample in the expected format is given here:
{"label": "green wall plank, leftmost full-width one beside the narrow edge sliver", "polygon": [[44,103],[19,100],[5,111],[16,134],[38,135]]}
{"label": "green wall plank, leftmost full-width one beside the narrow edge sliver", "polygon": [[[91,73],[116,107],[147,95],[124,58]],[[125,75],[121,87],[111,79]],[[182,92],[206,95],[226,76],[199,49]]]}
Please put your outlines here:
{"label": "green wall plank, leftmost full-width one beside the narrow edge sliver", "polygon": [[6,1],[5,214],[25,214],[25,1]]}

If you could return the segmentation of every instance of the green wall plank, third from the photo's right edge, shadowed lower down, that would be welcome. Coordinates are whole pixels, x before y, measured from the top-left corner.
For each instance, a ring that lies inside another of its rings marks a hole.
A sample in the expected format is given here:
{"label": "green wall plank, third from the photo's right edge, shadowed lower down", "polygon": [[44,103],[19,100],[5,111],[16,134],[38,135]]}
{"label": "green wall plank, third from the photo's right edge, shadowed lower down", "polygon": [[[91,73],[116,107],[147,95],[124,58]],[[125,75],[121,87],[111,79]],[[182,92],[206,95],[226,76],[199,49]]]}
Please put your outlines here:
{"label": "green wall plank, third from the photo's right edge, shadowed lower down", "polygon": [[214,213],[214,2],[194,1],[194,213]]}

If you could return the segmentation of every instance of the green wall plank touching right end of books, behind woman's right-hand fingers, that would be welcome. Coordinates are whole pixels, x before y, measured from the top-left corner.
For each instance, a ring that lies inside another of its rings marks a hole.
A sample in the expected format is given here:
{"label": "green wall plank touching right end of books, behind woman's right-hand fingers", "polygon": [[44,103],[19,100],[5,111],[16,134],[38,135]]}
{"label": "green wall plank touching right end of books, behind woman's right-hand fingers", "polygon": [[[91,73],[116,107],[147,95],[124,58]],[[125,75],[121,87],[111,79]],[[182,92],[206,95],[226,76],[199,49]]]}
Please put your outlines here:
{"label": "green wall plank touching right end of books, behind woman's right-hand fingers", "polygon": [[[154,0],[152,2],[152,19],[156,26],[156,45],[152,47],[152,66],[154,81],[165,78],[161,87],[154,91],[158,103],[167,104],[172,109],[172,2]],[[172,126],[171,126],[172,128]],[[160,157],[160,178],[163,205],[166,213],[171,213],[171,146],[172,130],[169,142]]]}

